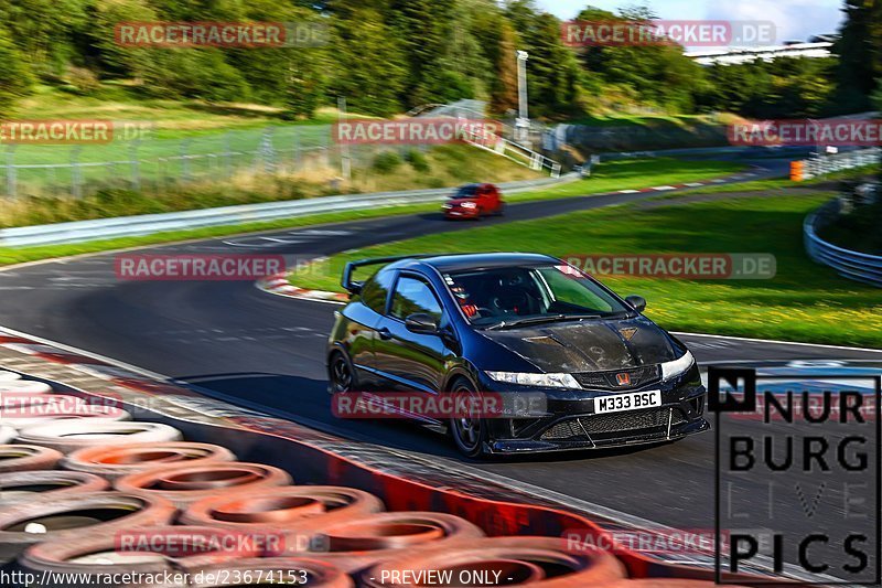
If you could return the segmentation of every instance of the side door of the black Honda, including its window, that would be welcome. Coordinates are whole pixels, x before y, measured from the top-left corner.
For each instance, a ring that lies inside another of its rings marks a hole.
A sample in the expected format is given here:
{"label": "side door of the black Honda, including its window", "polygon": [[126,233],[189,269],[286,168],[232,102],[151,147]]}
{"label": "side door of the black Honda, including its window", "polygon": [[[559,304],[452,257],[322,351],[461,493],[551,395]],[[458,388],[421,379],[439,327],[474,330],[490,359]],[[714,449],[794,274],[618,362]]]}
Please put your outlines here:
{"label": "side door of the black Honda, including its window", "polygon": [[390,391],[441,389],[444,363],[452,352],[442,336],[410,332],[405,319],[413,313],[427,313],[443,325],[443,307],[426,278],[402,272],[396,281],[389,310],[380,320],[374,346],[377,375]]}

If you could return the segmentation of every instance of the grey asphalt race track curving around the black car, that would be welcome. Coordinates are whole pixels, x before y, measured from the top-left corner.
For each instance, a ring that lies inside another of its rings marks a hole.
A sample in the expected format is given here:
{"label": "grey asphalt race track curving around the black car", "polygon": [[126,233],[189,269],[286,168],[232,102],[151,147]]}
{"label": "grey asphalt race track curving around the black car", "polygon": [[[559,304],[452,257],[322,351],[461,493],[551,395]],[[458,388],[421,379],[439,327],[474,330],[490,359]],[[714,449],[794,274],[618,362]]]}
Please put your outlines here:
{"label": "grey asphalt race track curving around the black car", "polygon": [[[504,218],[566,214],[653,194],[512,204]],[[440,215],[411,215],[153,247],[151,253],[283,254],[290,259],[455,232]],[[531,244],[523,245],[525,250]],[[632,292],[621,292],[632,293]],[[649,300],[652,306],[653,301]],[[439,434],[407,424],[341,421],[330,413],[324,349],[336,307],[292,300],[247,281],[118,281],[114,255],[0,272],[0,324],[198,385],[250,407],[401,450],[461,461]],[[664,327],[664,325],[663,325]],[[848,360],[882,363],[882,351],[684,335],[702,364]],[[745,425],[750,427],[750,424]],[[678,443],[471,463],[472,468],[664,525],[713,522],[713,434]],[[831,522],[830,524],[841,524]],[[782,522],[786,525],[786,517]]]}

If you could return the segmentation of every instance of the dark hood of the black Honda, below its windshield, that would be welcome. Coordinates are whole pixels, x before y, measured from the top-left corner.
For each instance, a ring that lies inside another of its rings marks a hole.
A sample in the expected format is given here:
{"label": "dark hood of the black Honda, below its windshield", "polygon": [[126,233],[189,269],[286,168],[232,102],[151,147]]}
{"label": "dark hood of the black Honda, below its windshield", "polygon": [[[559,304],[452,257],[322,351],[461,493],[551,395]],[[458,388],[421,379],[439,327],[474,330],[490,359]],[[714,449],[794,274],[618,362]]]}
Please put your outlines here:
{"label": "dark hood of the black Honda, below its windshield", "polygon": [[674,361],[680,344],[650,320],[589,320],[482,334],[549,373],[621,370]]}

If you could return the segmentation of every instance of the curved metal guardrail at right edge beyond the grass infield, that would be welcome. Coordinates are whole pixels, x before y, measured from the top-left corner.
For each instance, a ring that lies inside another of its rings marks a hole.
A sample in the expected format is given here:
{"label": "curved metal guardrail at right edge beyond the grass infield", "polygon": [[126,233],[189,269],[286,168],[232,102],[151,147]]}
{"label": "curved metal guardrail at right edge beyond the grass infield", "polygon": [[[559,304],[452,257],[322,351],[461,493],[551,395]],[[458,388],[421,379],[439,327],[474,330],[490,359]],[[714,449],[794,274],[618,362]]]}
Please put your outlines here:
{"label": "curved metal guardrail at right edge beyond the grass infield", "polygon": [[806,218],[803,234],[808,256],[815,263],[833,268],[843,278],[882,288],[882,257],[843,249],[818,236],[818,231],[838,216],[839,209],[839,200],[835,200]]}

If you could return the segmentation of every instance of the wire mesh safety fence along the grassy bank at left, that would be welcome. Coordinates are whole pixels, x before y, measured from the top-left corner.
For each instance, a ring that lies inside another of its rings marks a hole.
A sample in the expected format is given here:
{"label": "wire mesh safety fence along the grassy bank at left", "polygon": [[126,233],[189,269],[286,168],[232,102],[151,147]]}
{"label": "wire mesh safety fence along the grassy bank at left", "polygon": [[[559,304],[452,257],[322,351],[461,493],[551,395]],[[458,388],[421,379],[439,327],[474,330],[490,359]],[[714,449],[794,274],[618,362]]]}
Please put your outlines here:
{"label": "wire mesh safety fence along the grassy bank at left", "polygon": [[358,169],[372,165],[381,151],[404,157],[428,149],[426,145],[344,149],[333,140],[330,125],[263,127],[180,139],[151,138],[148,131],[132,135],[108,143],[0,146],[0,197],[83,197],[107,189],[162,191],[240,175],[340,170],[344,157],[347,165]]}

